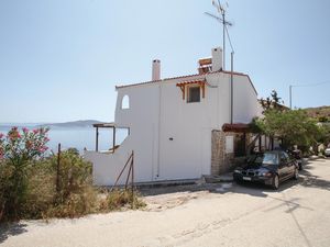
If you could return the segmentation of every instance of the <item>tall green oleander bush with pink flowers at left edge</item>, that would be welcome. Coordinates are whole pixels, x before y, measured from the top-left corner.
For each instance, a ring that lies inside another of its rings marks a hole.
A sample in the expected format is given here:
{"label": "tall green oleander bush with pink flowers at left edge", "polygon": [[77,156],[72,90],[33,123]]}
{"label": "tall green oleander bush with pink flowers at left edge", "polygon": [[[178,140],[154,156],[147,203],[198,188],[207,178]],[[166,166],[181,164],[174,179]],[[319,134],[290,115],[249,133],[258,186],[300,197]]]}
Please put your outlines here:
{"label": "tall green oleander bush with pink flowers at left edge", "polygon": [[0,221],[20,218],[28,197],[28,170],[47,150],[47,128],[12,127],[0,134]]}

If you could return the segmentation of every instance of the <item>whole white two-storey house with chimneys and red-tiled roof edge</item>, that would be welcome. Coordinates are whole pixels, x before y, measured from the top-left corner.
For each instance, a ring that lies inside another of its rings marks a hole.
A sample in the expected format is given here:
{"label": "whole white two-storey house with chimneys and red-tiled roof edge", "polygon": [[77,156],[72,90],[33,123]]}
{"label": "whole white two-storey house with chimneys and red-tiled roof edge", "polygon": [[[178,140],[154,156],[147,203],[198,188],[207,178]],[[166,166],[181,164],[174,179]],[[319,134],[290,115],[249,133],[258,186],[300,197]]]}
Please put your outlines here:
{"label": "whole white two-storey house with chimneys and red-tiled roof edge", "polygon": [[106,126],[129,135],[111,151],[85,153],[95,184],[113,184],[132,150],[134,180],[151,182],[218,175],[246,147],[246,124],[261,114],[257,93],[248,75],[222,70],[221,48],[199,59],[197,75],[161,79],[160,60],[152,75],[152,81],[116,87],[114,123]]}

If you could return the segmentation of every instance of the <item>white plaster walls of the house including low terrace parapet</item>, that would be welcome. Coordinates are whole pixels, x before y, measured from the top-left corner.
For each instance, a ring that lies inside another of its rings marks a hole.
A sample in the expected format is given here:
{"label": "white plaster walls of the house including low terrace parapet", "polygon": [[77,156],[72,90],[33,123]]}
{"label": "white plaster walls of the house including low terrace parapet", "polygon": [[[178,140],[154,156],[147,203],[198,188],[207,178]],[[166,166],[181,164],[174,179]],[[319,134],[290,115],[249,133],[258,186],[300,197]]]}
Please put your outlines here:
{"label": "white plaster walls of the house including low terrace parapet", "polygon": [[[131,150],[135,155],[138,182],[209,175],[211,131],[230,122],[230,76],[207,75],[212,87],[206,87],[206,97],[198,103],[187,103],[176,83],[202,78],[119,88],[114,121],[118,126],[130,127],[131,134],[113,155],[86,154],[94,161],[95,183],[113,183]],[[256,94],[246,77],[235,76],[234,83],[234,120],[249,123],[256,114]],[[130,109],[122,110],[121,100],[125,94],[130,98]]]}

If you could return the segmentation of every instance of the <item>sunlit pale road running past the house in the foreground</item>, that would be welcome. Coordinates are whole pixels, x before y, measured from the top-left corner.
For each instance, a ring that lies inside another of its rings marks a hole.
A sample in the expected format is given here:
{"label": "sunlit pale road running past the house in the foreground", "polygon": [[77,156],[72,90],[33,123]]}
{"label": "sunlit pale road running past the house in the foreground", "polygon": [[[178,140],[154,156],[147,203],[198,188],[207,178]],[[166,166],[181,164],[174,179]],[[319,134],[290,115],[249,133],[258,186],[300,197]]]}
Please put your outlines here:
{"label": "sunlit pale road running past the house in the foreground", "polygon": [[155,194],[146,211],[21,222],[0,231],[0,246],[330,246],[330,159],[278,191],[228,183]]}

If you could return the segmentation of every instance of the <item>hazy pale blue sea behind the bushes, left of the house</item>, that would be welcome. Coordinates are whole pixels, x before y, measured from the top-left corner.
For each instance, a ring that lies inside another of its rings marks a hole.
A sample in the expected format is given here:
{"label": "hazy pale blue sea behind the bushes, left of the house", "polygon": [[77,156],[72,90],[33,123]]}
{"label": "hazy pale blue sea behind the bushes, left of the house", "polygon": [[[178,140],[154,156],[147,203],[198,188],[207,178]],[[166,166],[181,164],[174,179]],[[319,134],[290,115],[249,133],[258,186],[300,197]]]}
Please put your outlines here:
{"label": "hazy pale blue sea behind the bushes, left of the house", "polygon": [[[11,126],[18,126],[22,132],[23,127],[29,130],[34,130],[40,124],[0,124],[0,133],[7,134]],[[127,137],[127,130],[117,128],[116,132],[116,144],[120,145]],[[112,128],[99,128],[99,150],[108,150],[112,147]],[[77,148],[80,154],[84,149],[95,150],[96,149],[96,130],[92,126],[74,126],[74,127],[58,127],[54,126],[47,133],[50,142],[47,147],[50,151],[57,153],[58,144],[61,144],[62,149]]]}

